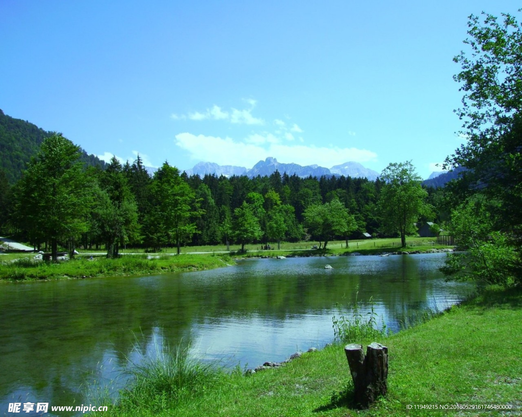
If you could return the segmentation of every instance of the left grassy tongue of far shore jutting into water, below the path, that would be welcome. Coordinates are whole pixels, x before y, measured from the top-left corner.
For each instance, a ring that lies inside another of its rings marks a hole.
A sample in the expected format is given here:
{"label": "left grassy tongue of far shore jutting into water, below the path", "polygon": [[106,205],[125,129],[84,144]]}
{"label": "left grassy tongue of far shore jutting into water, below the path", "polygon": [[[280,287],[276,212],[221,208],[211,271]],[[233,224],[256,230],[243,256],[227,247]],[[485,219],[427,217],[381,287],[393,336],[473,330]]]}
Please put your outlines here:
{"label": "left grassy tongue of far shore jutting into water, below the path", "polygon": [[0,280],[42,280],[108,277],[116,275],[161,274],[167,272],[199,271],[232,264],[230,256],[180,255],[147,259],[146,255],[126,255],[118,259],[77,257],[60,263],[34,262],[32,257],[0,259]]}

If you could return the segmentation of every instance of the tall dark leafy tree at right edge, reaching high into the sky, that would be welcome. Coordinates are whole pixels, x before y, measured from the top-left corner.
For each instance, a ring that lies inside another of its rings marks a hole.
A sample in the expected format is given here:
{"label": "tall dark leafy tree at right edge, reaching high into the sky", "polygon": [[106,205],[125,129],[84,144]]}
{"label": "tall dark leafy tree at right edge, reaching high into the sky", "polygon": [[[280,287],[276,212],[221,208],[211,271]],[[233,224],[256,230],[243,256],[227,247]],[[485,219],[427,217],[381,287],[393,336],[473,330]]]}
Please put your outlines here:
{"label": "tall dark leafy tree at right edge, reaching high into the sky", "polygon": [[[465,207],[459,204],[472,196],[488,201],[483,210],[491,222],[490,236],[513,246],[518,259],[513,268],[520,276],[522,25],[509,14],[498,19],[483,13],[471,15],[468,27],[470,38],[464,41],[468,48],[454,58],[462,68],[454,78],[465,92],[456,113],[463,120],[461,134],[467,142],[446,159],[446,165],[467,170],[450,185],[456,205],[453,216],[458,218]],[[467,218],[471,215],[467,213]],[[502,239],[494,232],[500,232]]]}

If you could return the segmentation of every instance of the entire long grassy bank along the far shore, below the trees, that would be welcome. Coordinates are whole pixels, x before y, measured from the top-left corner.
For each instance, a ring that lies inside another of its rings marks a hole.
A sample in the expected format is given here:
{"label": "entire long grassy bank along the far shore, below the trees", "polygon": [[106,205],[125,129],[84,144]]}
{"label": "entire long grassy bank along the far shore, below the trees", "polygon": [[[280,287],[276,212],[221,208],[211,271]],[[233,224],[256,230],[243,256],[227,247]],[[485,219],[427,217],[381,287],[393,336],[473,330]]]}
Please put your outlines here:
{"label": "entire long grassy bank along the far shore, below the trees", "polygon": [[[345,241],[328,243],[326,250],[311,250],[315,242],[282,243],[281,250],[263,251],[259,246],[247,245],[246,252],[226,252],[221,246],[185,247],[180,256],[173,256],[175,248],[151,254],[147,259],[143,250],[127,249],[122,251],[118,259],[105,259],[105,252],[94,253],[100,256],[80,254],[74,260],[60,263],[34,262],[34,254],[12,253],[0,256],[0,281],[91,278],[116,275],[161,274],[168,272],[199,271],[232,264],[234,258],[261,256],[332,256],[346,255],[354,252],[361,254],[380,254],[397,251],[400,239],[373,239],[350,241],[348,249]],[[434,238],[408,239],[408,247],[401,249],[407,252],[428,251],[444,248],[435,244]],[[231,248],[234,249],[234,248]],[[238,248],[235,248],[238,249]],[[191,253],[187,253],[191,252]],[[224,253],[223,253],[224,252]],[[91,252],[89,252],[91,253]]]}

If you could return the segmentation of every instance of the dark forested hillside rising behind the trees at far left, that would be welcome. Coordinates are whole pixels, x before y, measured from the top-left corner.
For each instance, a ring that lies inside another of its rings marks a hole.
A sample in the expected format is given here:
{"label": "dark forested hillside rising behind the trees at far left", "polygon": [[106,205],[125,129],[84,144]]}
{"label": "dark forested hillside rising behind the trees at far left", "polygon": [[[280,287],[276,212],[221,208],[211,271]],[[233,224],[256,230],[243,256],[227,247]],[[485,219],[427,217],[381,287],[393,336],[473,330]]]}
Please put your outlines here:
{"label": "dark forested hillside rising behind the trees at far left", "polygon": [[[20,178],[31,156],[40,151],[44,139],[52,134],[29,121],[7,116],[0,109],[0,170],[4,170],[9,183],[13,184]],[[105,168],[105,162],[96,155],[89,155],[82,149],[80,152],[81,162]]]}

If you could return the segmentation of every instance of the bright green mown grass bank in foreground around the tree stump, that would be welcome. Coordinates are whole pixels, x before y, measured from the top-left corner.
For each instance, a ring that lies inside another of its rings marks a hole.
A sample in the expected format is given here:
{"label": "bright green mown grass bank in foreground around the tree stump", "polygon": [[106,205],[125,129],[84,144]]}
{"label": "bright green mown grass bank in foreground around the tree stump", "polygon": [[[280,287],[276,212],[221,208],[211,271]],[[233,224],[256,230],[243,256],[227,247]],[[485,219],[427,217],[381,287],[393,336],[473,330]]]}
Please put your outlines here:
{"label": "bright green mown grass bank in foreground around the tree stump", "polygon": [[407,404],[457,402],[513,403],[522,410],[521,308],[519,289],[489,289],[427,322],[376,340],[389,348],[389,392],[369,410],[353,408],[345,354],[341,345],[334,345],[250,376],[215,370],[184,388],[167,382],[153,389],[148,384],[144,390],[141,374],[139,383],[128,386],[121,402],[103,415],[447,416],[458,413],[408,411]]}

